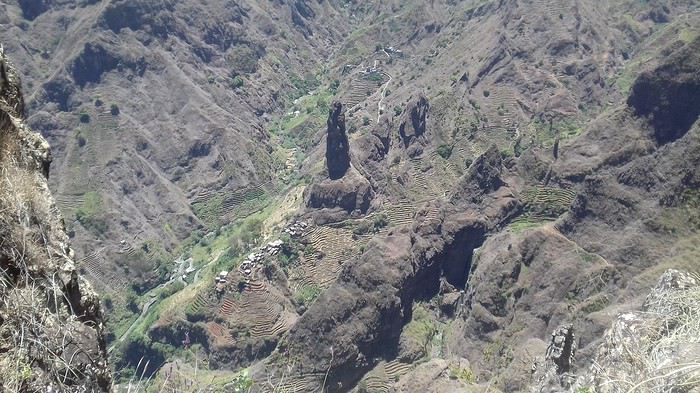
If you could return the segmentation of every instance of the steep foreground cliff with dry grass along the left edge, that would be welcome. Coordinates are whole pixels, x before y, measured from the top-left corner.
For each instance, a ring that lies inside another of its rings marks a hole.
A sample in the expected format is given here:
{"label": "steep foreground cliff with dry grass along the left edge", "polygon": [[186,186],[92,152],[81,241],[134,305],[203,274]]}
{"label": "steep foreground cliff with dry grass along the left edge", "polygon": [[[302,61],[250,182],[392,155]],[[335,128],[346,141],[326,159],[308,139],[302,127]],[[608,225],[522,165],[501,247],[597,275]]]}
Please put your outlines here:
{"label": "steep foreground cliff with dry grass along the left edge", "polygon": [[0,390],[108,391],[100,301],[76,271],[50,162],[0,48]]}

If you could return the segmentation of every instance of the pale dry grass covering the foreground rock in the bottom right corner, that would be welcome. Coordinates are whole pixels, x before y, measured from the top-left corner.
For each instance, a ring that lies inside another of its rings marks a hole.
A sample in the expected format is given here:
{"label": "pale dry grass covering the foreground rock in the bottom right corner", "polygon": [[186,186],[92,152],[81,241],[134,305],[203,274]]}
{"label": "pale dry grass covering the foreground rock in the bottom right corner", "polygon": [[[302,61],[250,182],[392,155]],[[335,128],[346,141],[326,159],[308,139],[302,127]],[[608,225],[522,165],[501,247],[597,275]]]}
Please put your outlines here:
{"label": "pale dry grass covering the foreground rock in the bottom right corner", "polygon": [[[700,276],[689,288],[654,290],[645,311],[621,316],[599,391],[688,392],[700,387]],[[609,363],[609,364],[607,364]],[[597,390],[597,391],[598,391]]]}

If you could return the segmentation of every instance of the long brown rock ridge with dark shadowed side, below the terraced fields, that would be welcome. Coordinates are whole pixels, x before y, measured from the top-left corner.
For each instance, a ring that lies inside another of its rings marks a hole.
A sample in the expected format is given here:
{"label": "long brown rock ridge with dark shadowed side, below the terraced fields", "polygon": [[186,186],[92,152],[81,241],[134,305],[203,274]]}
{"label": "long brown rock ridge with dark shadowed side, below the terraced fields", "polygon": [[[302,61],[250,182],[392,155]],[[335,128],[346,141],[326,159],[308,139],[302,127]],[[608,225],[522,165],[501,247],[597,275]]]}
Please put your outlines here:
{"label": "long brown rock ridge with dark shadowed side, below the terraced fields", "polygon": [[[489,203],[509,198],[492,194]],[[503,219],[487,218],[489,211],[486,203],[448,205],[439,220],[371,242],[292,327],[284,350],[300,359],[303,372],[328,369],[329,391],[346,391],[377,358],[399,346],[414,300],[437,294],[441,277],[457,285],[466,281],[473,249]]]}

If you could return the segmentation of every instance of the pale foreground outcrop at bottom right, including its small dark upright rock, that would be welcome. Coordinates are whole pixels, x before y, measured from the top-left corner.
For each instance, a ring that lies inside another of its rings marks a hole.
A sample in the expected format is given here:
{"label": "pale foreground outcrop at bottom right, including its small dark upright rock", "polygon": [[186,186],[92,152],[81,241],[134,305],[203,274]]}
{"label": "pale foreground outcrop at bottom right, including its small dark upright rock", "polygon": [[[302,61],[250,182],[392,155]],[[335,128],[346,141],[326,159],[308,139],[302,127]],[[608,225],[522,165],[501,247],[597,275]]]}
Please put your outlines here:
{"label": "pale foreground outcrop at bottom right, including its small dark upright rock", "polygon": [[693,391],[700,386],[699,295],[697,276],[673,269],[666,271],[641,310],[617,317],[605,332],[591,366],[578,375],[565,374],[568,366],[562,368],[560,363],[563,359],[566,365],[571,364],[567,359],[573,355],[567,348],[574,349],[568,345],[573,341],[570,327],[557,329],[547,349],[548,363],[534,367],[535,380],[530,390]]}

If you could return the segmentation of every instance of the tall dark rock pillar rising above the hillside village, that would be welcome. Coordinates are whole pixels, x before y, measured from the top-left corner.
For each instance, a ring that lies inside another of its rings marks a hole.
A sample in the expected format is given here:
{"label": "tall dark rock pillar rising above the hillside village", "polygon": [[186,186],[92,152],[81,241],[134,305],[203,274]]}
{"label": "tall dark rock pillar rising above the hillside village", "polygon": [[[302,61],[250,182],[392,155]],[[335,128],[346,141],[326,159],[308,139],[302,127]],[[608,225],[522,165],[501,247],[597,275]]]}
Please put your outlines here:
{"label": "tall dark rock pillar rising above the hillside village", "polygon": [[350,168],[350,142],[345,132],[343,104],[334,102],[328,112],[326,165],[331,180],[340,179]]}

